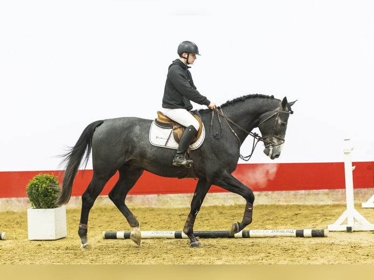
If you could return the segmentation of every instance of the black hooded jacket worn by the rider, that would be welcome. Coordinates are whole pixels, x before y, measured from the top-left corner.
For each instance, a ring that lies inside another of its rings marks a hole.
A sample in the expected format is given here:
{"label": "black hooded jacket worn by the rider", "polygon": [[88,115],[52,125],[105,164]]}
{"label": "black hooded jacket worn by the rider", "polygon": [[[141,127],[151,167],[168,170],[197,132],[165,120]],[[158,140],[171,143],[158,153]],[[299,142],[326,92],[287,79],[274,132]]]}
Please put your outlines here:
{"label": "black hooded jacket worn by the rider", "polygon": [[192,110],[190,100],[201,105],[210,104],[210,101],[196,90],[188,68],[190,67],[179,59],[170,64],[162,100],[163,108]]}

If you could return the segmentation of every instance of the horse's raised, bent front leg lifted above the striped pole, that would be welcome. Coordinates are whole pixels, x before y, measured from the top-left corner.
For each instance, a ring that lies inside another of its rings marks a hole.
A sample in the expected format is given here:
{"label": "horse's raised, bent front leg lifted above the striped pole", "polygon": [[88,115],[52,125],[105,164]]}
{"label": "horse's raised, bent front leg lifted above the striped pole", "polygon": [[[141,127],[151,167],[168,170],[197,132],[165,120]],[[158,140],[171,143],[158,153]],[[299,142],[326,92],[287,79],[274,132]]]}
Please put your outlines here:
{"label": "horse's raised, bent front leg lifted above the striped pole", "polygon": [[232,193],[241,195],[247,201],[246,208],[244,209],[244,215],[243,215],[242,221],[241,222],[237,221],[233,223],[231,227],[230,235],[232,236],[235,233],[238,233],[241,230],[243,230],[247,225],[249,225],[252,222],[253,201],[254,201],[253,192],[251,189],[249,189],[249,187],[245,186],[243,183],[241,183],[231,174],[228,174],[226,172],[223,172],[222,174],[220,174],[216,178],[214,184]]}

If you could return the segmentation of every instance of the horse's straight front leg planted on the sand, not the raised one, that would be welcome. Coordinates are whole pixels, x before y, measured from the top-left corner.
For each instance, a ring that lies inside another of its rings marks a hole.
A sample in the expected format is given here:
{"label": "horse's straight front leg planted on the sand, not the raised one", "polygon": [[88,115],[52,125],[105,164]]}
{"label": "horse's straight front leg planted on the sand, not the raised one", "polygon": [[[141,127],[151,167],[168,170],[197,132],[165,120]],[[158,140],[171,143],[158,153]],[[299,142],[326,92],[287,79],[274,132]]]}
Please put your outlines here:
{"label": "horse's straight front leg planted on the sand, not the raised one", "polygon": [[200,211],[201,204],[205,196],[208,193],[211,184],[204,180],[199,180],[196,184],[195,192],[193,194],[193,198],[191,201],[191,209],[187,217],[187,221],[185,226],[183,227],[183,233],[185,233],[189,240],[190,240],[190,247],[192,248],[199,248],[201,247],[201,243],[199,240],[196,239],[195,235],[193,234],[193,225],[195,223],[195,219],[197,213]]}

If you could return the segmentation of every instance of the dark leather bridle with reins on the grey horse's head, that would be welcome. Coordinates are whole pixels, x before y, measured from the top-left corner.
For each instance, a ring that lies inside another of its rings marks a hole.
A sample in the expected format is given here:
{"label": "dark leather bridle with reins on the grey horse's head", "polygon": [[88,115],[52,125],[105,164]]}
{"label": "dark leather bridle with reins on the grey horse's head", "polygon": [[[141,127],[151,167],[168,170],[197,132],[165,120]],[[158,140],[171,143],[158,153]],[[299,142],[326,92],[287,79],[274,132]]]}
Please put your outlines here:
{"label": "dark leather bridle with reins on the grey horse's head", "polygon": [[[230,126],[229,122],[231,122],[233,125],[235,125],[236,127],[238,127],[240,130],[244,131],[244,132],[247,133],[248,135],[252,136],[252,137],[253,137],[253,143],[252,143],[252,150],[251,150],[250,154],[249,154],[248,156],[242,156],[242,155],[240,155],[240,159],[245,160],[245,161],[248,161],[248,160],[251,158],[251,156],[253,155],[254,149],[256,148],[256,146],[257,146],[257,144],[258,144],[259,141],[264,142],[264,146],[265,146],[265,148],[270,148],[270,149],[272,149],[272,148],[275,147],[275,146],[282,145],[282,144],[285,142],[285,139],[284,139],[283,137],[280,137],[280,136],[275,135],[275,134],[274,134],[274,131],[275,131],[276,128],[277,128],[277,125],[278,125],[278,119],[279,119],[279,115],[280,115],[280,114],[291,114],[291,115],[293,114],[293,111],[291,110],[291,106],[290,106],[290,104],[287,104],[287,108],[288,108],[289,111],[282,111],[282,104],[281,104],[281,105],[279,106],[279,108],[278,108],[276,111],[274,111],[274,113],[273,113],[272,115],[270,115],[270,116],[269,116],[268,118],[266,118],[265,120],[260,121],[260,123],[257,125],[257,127],[259,127],[261,124],[263,124],[264,122],[266,122],[267,120],[270,120],[272,117],[275,116],[275,121],[274,121],[273,131],[272,131],[272,133],[271,133],[270,135],[267,135],[267,136],[265,136],[265,137],[261,137],[261,136],[259,136],[257,133],[253,133],[253,132],[251,132],[251,131],[247,131],[246,129],[244,129],[243,127],[241,127],[239,124],[235,123],[235,122],[234,122],[233,120],[231,120],[229,117],[225,116],[225,114],[223,113],[221,107],[219,107],[219,110],[218,110],[218,109],[213,109],[213,110],[212,110],[212,117],[211,117],[211,120],[210,120],[210,134],[211,134],[212,136],[214,136],[214,138],[216,138],[216,139],[219,139],[219,138],[222,137],[222,135],[223,135],[223,130],[222,130],[222,122],[221,122],[221,119],[220,119],[220,116],[221,116],[221,117],[223,117],[223,118],[226,120],[226,122],[227,122],[227,124],[228,124],[228,126],[229,126],[229,128],[230,128],[230,130],[231,130],[231,132],[235,135],[236,139],[239,141],[239,146],[241,145],[241,141],[240,141],[238,135],[236,134],[236,132],[235,132],[235,131],[232,129],[232,127]],[[216,133],[214,133],[214,134],[212,133],[212,126],[213,126],[214,112],[216,112],[217,115],[218,115],[218,122],[219,122],[219,124],[220,124],[221,135],[220,135],[218,132],[216,132]],[[281,140],[282,142],[277,144],[277,143],[275,143],[275,142],[273,142],[273,141],[266,141],[266,140],[265,140],[265,139],[270,138],[270,137],[271,137],[271,138],[277,138],[277,139]],[[257,141],[256,141],[256,140],[257,140]]]}

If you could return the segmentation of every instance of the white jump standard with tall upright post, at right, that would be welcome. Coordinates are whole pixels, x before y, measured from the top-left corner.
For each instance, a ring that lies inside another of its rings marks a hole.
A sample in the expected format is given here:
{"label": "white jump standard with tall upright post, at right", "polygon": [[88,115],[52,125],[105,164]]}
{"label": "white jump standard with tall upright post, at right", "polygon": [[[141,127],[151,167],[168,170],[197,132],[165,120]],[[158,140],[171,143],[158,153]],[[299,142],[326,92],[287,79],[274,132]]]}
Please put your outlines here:
{"label": "white jump standard with tall upright post, at right", "polygon": [[[327,228],[331,231],[371,231],[374,230],[374,224],[368,222],[356,209],[354,209],[353,199],[353,169],[351,152],[353,146],[349,139],[344,140],[344,171],[345,171],[345,189],[347,210],[333,223],[329,224]],[[347,224],[343,222],[347,220]]]}

